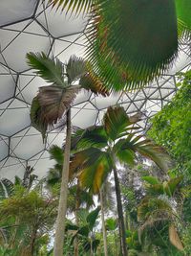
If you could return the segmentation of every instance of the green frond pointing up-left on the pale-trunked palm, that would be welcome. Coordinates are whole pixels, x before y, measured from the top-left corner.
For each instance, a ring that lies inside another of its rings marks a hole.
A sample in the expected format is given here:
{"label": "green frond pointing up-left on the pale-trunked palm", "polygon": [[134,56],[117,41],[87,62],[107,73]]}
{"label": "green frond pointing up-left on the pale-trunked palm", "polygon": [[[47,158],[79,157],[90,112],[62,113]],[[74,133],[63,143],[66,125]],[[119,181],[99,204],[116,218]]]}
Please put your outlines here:
{"label": "green frond pointing up-left on the pale-trunked palm", "polygon": [[28,64],[36,70],[36,74],[45,81],[65,87],[63,64],[58,58],[49,58],[44,53],[27,54]]}

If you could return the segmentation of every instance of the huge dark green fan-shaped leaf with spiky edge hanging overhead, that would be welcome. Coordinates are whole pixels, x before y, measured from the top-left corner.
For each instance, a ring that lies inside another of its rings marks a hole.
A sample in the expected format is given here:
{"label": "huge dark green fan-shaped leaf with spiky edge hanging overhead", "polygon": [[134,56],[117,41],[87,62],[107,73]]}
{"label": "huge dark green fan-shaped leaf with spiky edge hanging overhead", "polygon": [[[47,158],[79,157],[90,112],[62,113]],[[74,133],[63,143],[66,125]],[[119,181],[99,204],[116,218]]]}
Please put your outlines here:
{"label": "huge dark green fan-shaped leaf with spiky edge hanging overhead", "polygon": [[[105,62],[106,68],[110,67],[107,73],[104,71],[105,81],[113,84],[114,80],[115,85],[118,83],[120,88],[124,88],[131,83],[150,81],[169,67],[178,51],[173,0],[97,2],[98,18],[96,29],[91,31],[92,44],[88,56],[98,76],[104,76],[101,70]],[[124,73],[124,77],[116,81],[118,72]],[[121,83],[122,79],[124,82]]]}

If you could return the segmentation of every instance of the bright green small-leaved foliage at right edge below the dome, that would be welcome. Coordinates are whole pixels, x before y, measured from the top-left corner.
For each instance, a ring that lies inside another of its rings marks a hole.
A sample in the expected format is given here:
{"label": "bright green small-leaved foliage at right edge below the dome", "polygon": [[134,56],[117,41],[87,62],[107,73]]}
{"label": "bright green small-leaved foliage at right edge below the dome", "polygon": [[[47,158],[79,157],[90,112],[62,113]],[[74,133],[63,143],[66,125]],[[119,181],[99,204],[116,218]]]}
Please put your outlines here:
{"label": "bright green small-leaved foliage at right edge below the dome", "polygon": [[191,71],[180,74],[180,89],[171,103],[153,118],[148,135],[163,145],[176,162],[176,169],[191,179]]}

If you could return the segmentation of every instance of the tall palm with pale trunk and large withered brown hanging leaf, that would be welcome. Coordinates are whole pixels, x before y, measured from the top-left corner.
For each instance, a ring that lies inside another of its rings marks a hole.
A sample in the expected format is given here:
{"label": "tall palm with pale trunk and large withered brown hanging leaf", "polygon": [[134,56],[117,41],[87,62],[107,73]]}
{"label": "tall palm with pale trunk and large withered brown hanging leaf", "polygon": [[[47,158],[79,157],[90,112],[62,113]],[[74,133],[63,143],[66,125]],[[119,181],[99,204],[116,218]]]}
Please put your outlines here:
{"label": "tall palm with pale trunk and large withered brown hanging leaf", "polygon": [[[46,140],[47,129],[53,127],[53,124],[64,115],[66,117],[64,163],[53,247],[53,255],[61,256],[63,254],[71,150],[71,105],[81,88],[103,96],[108,95],[108,90],[90,71],[89,64],[82,58],[72,56],[65,65],[58,58],[49,58],[44,53],[29,53],[27,59],[29,65],[36,70],[37,75],[52,82],[51,85],[40,87],[37,96],[32,101],[32,126],[38,129],[42,133],[43,140]],[[79,85],[74,85],[76,80],[79,80]]]}

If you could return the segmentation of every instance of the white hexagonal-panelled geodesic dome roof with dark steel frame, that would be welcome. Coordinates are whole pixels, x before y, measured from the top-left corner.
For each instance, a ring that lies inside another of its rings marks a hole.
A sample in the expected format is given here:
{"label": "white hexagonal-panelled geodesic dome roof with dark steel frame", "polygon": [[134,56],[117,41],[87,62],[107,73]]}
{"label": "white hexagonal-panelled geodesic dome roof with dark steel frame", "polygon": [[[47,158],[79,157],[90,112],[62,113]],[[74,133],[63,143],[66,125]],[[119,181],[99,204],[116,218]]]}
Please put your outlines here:
{"label": "white hexagonal-panelled geodesic dome roof with dark steel frame", "polygon": [[[39,177],[53,165],[51,145],[61,146],[64,129],[41,134],[31,126],[30,107],[39,86],[47,85],[26,63],[28,52],[44,52],[67,61],[71,55],[83,56],[88,18],[56,12],[41,0],[1,0],[0,2],[0,177],[23,175],[32,166]],[[77,128],[99,124],[109,105],[123,105],[127,113],[140,111],[146,128],[148,120],[168,103],[176,92],[176,73],[189,68],[188,45],[176,64],[162,76],[137,92],[113,94],[107,98],[81,91],[72,108],[72,123]]]}

